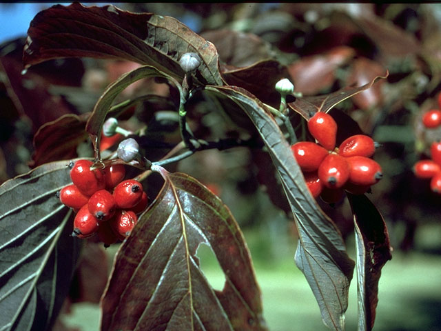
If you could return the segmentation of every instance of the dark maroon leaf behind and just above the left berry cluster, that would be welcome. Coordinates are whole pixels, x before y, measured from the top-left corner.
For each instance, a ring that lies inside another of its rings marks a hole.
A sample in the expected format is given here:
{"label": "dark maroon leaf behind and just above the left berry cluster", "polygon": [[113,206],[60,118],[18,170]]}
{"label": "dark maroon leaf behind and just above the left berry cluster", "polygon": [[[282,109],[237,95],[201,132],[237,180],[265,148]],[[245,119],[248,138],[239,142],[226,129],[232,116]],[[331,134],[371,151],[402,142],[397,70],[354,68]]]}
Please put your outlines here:
{"label": "dark maroon leaf behind and just above the left berry cluster", "polygon": [[88,139],[85,123],[89,116],[66,114],[41,126],[34,135],[31,166],[77,157],[76,147]]}

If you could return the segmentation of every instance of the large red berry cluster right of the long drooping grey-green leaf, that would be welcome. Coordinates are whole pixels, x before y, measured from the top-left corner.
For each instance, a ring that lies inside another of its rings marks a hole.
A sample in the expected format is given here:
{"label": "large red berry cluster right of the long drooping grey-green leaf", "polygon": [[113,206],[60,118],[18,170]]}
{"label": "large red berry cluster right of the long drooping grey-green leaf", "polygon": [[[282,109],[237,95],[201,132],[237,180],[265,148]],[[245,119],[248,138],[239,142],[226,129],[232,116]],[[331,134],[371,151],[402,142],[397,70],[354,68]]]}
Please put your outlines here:
{"label": "large red berry cluster right of the long drooping grey-green leaf", "polygon": [[313,197],[336,203],[345,191],[363,194],[382,178],[371,159],[376,148],[371,137],[356,134],[336,148],[337,123],[325,112],[309,119],[308,130],[318,143],[300,141],[291,150]]}

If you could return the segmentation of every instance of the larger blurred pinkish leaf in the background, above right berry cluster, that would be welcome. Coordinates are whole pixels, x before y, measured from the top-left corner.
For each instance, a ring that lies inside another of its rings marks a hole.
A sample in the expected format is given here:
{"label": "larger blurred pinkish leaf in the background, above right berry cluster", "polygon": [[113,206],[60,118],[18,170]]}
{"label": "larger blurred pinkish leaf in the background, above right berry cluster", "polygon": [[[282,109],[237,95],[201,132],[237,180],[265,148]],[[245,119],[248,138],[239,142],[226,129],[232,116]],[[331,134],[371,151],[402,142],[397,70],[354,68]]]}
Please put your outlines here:
{"label": "larger blurred pinkish leaf in the background, above right berry cluster", "polygon": [[338,46],[326,53],[303,57],[292,63],[288,71],[296,91],[314,95],[330,88],[336,81],[336,69],[352,59],[355,53],[353,48]]}

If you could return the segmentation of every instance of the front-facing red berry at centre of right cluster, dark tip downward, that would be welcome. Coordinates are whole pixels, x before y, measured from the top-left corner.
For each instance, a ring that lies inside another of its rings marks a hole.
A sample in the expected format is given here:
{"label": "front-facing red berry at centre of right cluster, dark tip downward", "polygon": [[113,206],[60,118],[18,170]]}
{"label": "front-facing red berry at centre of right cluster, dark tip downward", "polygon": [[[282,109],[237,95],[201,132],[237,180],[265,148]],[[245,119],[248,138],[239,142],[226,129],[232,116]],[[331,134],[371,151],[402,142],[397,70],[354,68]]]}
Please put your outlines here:
{"label": "front-facing red berry at centre of right cluster, dark tip downward", "polygon": [[328,188],[341,188],[349,178],[347,158],[329,154],[318,167],[318,178]]}

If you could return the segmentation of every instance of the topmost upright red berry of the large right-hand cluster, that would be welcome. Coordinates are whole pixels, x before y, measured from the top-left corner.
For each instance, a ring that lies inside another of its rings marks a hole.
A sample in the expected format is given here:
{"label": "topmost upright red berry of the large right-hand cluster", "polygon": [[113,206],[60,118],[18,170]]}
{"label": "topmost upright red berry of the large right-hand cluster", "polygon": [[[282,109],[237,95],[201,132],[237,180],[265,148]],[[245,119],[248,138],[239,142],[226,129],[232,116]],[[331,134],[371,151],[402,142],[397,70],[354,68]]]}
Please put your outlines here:
{"label": "topmost upright red berry of the large right-hand cluster", "polygon": [[326,112],[316,112],[308,121],[308,130],[318,143],[327,150],[336,147],[337,123]]}

